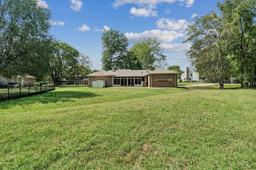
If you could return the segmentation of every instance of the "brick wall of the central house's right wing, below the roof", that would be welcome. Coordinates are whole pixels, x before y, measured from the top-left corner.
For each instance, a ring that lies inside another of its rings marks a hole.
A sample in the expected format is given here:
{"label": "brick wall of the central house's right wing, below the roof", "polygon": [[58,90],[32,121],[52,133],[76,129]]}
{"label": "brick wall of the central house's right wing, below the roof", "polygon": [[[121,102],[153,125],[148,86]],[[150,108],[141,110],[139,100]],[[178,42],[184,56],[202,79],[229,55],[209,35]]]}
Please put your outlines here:
{"label": "brick wall of the central house's right wing, below the roof", "polygon": [[[150,74],[148,76],[149,81],[148,81],[148,87],[176,87],[177,86],[177,76],[176,74]],[[155,79],[172,79],[172,81],[176,82],[176,84],[173,84],[172,82],[169,81],[155,81]],[[151,81],[152,80],[152,85]]]}

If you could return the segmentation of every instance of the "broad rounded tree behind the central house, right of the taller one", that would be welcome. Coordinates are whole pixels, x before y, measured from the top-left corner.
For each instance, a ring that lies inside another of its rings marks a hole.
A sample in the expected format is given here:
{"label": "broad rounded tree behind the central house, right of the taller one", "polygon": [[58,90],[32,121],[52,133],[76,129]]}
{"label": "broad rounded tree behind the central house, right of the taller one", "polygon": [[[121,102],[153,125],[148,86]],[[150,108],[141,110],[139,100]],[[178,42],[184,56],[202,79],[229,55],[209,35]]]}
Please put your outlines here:
{"label": "broad rounded tree behind the central house, right of the taller one", "polygon": [[141,42],[134,44],[130,51],[136,55],[143,69],[155,70],[167,65],[162,42],[157,37],[142,39]]}

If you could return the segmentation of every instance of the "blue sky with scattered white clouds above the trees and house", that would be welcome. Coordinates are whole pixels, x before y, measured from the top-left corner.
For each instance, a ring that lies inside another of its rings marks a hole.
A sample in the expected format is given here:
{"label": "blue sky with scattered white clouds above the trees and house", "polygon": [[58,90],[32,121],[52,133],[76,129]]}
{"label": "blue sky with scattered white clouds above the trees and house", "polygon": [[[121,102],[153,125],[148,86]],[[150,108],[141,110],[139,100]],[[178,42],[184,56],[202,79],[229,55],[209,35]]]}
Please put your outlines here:
{"label": "blue sky with scattered white clouds above the trees and house", "polygon": [[[185,29],[202,16],[217,11],[222,0],[39,0],[52,14],[50,33],[92,60],[91,69],[101,70],[102,31],[124,33],[129,48],[143,38],[157,37],[164,46],[168,66],[190,67],[183,44]],[[167,66],[167,67],[168,67]],[[166,67],[166,68],[167,68]]]}

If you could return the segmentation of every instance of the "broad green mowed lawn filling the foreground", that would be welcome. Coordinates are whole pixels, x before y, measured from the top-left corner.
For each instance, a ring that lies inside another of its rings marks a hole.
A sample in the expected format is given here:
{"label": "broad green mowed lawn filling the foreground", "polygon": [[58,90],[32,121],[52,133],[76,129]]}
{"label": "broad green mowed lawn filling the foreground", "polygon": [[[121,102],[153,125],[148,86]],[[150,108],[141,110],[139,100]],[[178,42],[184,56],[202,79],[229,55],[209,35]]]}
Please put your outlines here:
{"label": "broad green mowed lawn filling the foreground", "polygon": [[256,169],[255,89],[87,88],[0,102],[0,169]]}

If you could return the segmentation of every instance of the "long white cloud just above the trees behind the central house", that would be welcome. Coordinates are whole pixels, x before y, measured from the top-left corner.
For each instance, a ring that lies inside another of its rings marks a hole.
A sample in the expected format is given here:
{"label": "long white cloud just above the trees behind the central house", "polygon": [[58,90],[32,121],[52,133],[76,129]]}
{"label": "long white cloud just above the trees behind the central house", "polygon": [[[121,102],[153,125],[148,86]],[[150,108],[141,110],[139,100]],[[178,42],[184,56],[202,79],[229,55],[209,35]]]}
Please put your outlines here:
{"label": "long white cloud just above the trees behind the central house", "polygon": [[183,37],[183,33],[178,33],[176,31],[161,31],[160,29],[153,29],[150,31],[144,31],[142,33],[125,33],[127,39],[130,43],[137,43],[141,41],[143,38],[147,39],[149,37],[157,37],[158,40],[162,41],[162,43],[169,43],[174,39],[178,39],[179,37]]}

